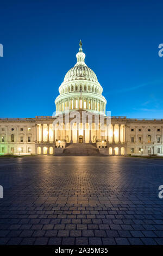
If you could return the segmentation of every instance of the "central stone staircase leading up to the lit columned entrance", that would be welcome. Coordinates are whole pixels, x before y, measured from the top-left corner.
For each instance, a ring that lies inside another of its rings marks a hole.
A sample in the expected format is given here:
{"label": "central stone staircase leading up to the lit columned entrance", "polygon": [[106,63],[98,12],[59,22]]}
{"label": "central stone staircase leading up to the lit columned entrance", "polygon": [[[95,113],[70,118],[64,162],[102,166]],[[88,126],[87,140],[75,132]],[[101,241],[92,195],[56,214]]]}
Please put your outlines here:
{"label": "central stone staircase leading up to the lit columned entrance", "polygon": [[66,146],[62,156],[101,156],[96,143],[68,143]]}

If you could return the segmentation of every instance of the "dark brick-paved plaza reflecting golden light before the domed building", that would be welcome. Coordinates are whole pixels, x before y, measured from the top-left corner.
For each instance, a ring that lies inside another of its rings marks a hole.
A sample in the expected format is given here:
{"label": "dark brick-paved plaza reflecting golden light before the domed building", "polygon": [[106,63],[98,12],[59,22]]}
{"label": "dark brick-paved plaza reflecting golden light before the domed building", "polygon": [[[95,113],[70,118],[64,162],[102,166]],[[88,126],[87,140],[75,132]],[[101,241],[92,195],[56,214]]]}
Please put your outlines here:
{"label": "dark brick-paved plaza reflecting golden light before the domed building", "polygon": [[0,159],[1,245],[163,245],[163,161]]}

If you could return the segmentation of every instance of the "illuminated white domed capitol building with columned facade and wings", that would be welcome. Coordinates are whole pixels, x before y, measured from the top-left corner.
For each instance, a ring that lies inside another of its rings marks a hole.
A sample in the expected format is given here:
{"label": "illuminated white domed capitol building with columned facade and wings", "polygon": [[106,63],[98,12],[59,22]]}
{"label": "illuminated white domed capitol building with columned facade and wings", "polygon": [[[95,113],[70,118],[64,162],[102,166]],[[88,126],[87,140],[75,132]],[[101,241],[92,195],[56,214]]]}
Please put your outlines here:
{"label": "illuminated white domed capitol building with columned facade and wings", "polygon": [[163,156],[163,119],[111,117],[81,40],[76,57],[52,117],[0,118],[0,155]]}

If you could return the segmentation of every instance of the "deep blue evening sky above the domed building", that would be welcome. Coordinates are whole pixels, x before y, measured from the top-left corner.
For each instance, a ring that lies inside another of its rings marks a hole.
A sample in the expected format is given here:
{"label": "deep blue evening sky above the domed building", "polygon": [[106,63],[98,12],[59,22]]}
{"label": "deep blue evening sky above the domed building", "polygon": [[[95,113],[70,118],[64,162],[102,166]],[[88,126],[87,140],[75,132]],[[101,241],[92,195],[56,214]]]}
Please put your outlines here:
{"label": "deep blue evening sky above the domed building", "polygon": [[3,1],[0,117],[52,115],[79,40],[111,115],[163,118],[162,1]]}

